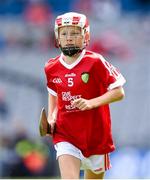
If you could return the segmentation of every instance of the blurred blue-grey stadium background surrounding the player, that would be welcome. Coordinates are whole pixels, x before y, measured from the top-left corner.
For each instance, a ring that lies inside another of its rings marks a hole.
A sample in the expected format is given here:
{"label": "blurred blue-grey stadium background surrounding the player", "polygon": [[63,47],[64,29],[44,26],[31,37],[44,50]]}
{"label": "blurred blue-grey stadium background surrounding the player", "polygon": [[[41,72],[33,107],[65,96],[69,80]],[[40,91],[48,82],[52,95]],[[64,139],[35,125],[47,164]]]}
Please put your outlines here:
{"label": "blurred blue-grey stadium background surrounding the player", "polygon": [[0,0],[0,178],[59,178],[38,122],[47,107],[43,67],[59,54],[54,19],[67,11],[89,17],[88,49],[127,80],[126,98],[111,105],[117,149],[106,178],[150,178],[149,0]]}

